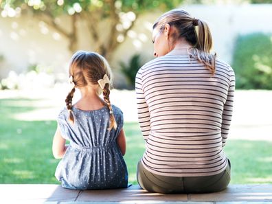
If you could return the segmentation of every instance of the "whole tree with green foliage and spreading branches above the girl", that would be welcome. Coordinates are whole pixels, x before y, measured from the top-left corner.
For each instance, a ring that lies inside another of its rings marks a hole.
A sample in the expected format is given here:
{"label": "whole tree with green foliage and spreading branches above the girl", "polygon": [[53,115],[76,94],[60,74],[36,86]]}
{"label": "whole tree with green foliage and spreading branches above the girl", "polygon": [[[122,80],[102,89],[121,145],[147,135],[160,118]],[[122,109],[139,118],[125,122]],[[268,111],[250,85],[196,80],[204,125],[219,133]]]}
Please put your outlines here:
{"label": "whole tree with green foliage and spreading branches above the girl", "polygon": [[[74,52],[78,47],[78,21],[87,25],[95,50],[111,58],[111,53],[126,39],[127,33],[137,17],[150,10],[169,10],[177,7],[183,0],[0,0],[1,16],[13,17],[28,13],[53,27],[69,41],[69,50]],[[58,23],[58,16],[67,15],[70,28]],[[106,23],[109,34],[100,31],[98,25]]]}

